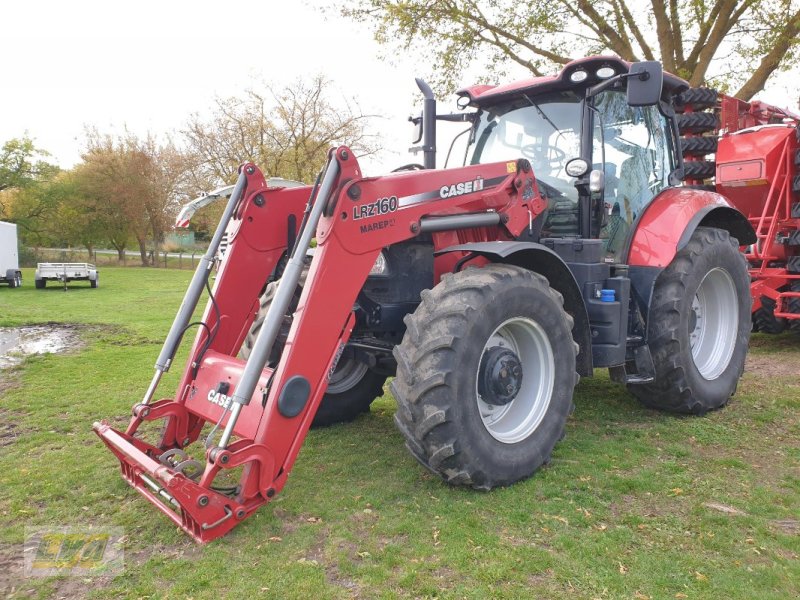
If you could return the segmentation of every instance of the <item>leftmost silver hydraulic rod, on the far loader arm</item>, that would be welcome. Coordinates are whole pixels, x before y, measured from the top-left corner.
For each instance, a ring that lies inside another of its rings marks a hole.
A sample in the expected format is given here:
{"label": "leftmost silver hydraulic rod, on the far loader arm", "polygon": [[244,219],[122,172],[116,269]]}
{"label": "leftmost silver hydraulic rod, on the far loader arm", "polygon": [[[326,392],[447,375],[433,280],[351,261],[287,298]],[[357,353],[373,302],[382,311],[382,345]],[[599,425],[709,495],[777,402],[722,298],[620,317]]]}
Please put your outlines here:
{"label": "leftmost silver hydraulic rod, on the far loader arm", "polygon": [[225,207],[225,212],[222,213],[222,218],[217,225],[217,230],[211,238],[211,243],[208,245],[206,253],[197,264],[197,270],[194,272],[192,281],[186,290],[181,306],[178,309],[178,314],[175,315],[175,320],[172,322],[172,327],[169,330],[167,339],[164,340],[161,354],[158,355],[158,360],[156,360],[156,373],[153,376],[153,380],[150,382],[150,386],[147,388],[147,392],[145,392],[142,404],[148,404],[150,402],[153,398],[153,394],[155,394],[156,387],[158,387],[158,382],[161,380],[161,376],[169,371],[172,359],[175,357],[175,352],[178,350],[178,345],[186,331],[186,326],[192,318],[192,313],[194,313],[200,295],[203,293],[203,288],[208,281],[211,268],[214,266],[214,259],[217,255],[219,245],[222,242],[222,236],[225,234],[225,229],[227,229],[228,223],[233,216],[239,198],[241,198],[244,193],[246,184],[247,176],[244,173],[244,169],[242,169],[242,172],[239,173],[239,179],[236,180],[236,185],[233,188],[228,204]]}

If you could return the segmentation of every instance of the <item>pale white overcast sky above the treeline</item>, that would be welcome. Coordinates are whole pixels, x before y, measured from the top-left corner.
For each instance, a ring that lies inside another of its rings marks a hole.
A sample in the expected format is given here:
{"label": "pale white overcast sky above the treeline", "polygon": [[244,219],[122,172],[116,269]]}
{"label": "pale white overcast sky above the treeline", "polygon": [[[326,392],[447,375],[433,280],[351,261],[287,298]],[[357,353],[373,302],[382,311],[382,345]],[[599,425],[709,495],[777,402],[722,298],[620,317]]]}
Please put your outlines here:
{"label": "pale white overcast sky above the treeline", "polygon": [[[174,132],[190,114],[209,114],[215,97],[240,95],[259,81],[280,87],[321,73],[333,82],[334,97],[379,115],[372,126],[389,150],[362,161],[365,174],[410,162],[406,119],[421,105],[414,77],[428,65],[401,54],[381,58],[386,49],[370,28],[324,10],[330,5],[0,2],[0,143],[27,134],[68,168],[80,160],[86,126],[102,133]],[[797,73],[785,74],[758,97],[796,111],[796,80]],[[454,98],[439,106],[455,110]],[[440,136],[440,150],[446,137]]]}

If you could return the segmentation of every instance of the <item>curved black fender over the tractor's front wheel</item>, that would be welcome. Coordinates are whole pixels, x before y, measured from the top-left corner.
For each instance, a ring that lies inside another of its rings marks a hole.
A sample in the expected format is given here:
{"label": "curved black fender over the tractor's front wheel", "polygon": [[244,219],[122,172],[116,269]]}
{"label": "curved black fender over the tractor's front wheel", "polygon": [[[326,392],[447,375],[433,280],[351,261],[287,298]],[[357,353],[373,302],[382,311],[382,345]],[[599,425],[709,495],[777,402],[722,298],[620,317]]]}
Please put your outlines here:
{"label": "curved black fender over the tractor's front wheel", "polygon": [[586,305],[575,277],[558,254],[533,242],[477,242],[449,246],[436,251],[436,255],[449,252],[482,256],[491,262],[523,267],[546,277],[550,285],[564,297],[564,309],[575,320],[572,338],[579,347],[575,368],[583,377],[592,376],[592,338]]}

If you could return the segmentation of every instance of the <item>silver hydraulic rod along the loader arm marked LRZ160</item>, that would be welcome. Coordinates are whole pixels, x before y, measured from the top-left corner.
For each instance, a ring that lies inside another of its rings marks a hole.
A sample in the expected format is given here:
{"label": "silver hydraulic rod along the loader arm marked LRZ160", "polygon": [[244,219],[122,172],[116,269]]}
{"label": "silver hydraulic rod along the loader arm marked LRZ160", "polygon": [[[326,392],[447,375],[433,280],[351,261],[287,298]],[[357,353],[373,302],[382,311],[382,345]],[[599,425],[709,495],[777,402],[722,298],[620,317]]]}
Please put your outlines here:
{"label": "silver hydraulic rod along the loader arm marked LRZ160", "polygon": [[278,283],[278,289],[275,292],[275,297],[267,311],[264,324],[253,344],[253,349],[250,351],[247,364],[239,379],[239,384],[236,386],[236,391],[231,398],[231,416],[225,426],[225,431],[220,437],[218,444],[220,448],[226,448],[228,446],[228,442],[233,435],[233,429],[236,426],[236,421],[239,418],[239,413],[241,413],[242,407],[250,402],[250,398],[253,396],[253,392],[263,374],[264,365],[267,364],[270,351],[272,350],[272,346],[283,324],[283,316],[289,308],[289,304],[297,289],[297,284],[300,281],[303,266],[305,265],[306,251],[311,246],[311,238],[317,230],[317,224],[322,216],[322,212],[325,210],[325,206],[328,204],[331,194],[335,191],[334,186],[336,185],[338,177],[339,162],[336,154],[332,153],[328,159],[328,164],[325,166],[322,183],[314,199],[311,212],[308,214],[308,220],[298,236],[292,256],[283,271],[283,275]]}

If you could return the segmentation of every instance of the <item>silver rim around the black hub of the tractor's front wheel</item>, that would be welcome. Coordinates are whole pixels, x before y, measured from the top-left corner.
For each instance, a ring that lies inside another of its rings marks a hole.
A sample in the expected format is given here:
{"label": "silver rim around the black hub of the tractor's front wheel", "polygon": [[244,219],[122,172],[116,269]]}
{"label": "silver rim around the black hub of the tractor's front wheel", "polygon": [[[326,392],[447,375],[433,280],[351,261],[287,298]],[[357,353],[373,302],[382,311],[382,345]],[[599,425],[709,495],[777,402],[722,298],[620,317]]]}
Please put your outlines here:
{"label": "silver rim around the black hub of the tractor's front wheel", "polygon": [[547,414],[555,386],[553,348],[544,329],[536,321],[523,317],[509,319],[495,329],[481,357],[495,346],[508,348],[517,355],[522,363],[522,386],[508,404],[488,404],[478,393],[476,374],[475,397],[483,426],[491,436],[504,444],[515,444],[536,431]]}

